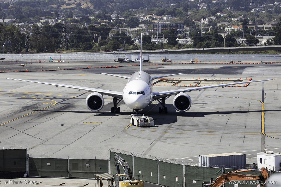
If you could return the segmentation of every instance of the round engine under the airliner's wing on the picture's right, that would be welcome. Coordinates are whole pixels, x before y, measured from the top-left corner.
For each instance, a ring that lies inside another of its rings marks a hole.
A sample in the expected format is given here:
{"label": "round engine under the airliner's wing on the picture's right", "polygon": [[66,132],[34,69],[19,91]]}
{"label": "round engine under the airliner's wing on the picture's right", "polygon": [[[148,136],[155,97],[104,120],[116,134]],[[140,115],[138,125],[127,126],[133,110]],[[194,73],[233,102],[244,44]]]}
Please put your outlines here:
{"label": "round engine under the airliner's wing on the picture's right", "polygon": [[176,110],[185,112],[191,107],[191,98],[186,93],[181,92],[175,96],[173,105]]}

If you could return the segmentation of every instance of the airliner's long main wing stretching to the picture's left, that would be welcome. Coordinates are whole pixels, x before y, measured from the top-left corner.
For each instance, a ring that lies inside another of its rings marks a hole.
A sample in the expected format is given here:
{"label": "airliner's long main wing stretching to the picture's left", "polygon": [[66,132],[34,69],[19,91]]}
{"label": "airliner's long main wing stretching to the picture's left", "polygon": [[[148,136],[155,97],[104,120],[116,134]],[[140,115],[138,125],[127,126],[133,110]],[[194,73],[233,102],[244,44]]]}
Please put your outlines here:
{"label": "airliner's long main wing stretching to the picture's left", "polygon": [[[4,78],[4,79],[12,79],[12,78]],[[98,92],[100,94],[116,97],[119,99],[123,99],[122,92],[117,92],[117,91],[112,91],[112,90],[103,90],[103,89],[98,89],[98,88],[88,88],[88,87],[82,87],[82,86],[73,86],[73,85],[67,85],[67,84],[57,84],[57,83],[49,83],[49,82],[39,82],[39,81],[33,81],[33,80],[23,80],[23,79],[13,79],[13,80],[21,80],[21,81],[26,81],[26,82],[35,82],[35,83],[40,83],[40,84],[49,84],[49,85],[54,85],[56,87],[62,86],[62,87],[67,87],[67,88],[74,88],[78,90],[85,90],[85,91],[90,91],[90,92]]]}

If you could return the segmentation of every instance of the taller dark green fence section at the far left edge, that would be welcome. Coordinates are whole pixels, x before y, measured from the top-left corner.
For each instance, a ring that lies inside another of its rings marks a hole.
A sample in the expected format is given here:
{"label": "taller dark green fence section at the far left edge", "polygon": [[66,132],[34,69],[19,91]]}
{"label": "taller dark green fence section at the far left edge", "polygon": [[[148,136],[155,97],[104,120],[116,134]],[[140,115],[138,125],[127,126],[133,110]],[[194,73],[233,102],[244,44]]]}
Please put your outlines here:
{"label": "taller dark green fence section at the far left edge", "polygon": [[26,171],[26,149],[0,150],[0,172]]}

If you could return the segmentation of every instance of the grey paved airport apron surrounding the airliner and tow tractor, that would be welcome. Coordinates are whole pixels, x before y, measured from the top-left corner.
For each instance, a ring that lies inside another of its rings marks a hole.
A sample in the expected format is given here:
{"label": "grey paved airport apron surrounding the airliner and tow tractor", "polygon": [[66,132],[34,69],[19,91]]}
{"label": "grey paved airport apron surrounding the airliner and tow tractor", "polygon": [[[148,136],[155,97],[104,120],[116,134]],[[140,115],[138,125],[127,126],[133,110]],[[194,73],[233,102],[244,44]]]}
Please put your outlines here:
{"label": "grey paved airport apron surrounding the airliner and tow tractor", "polygon": [[[27,64],[27,67],[36,69],[43,64],[51,69],[48,63]],[[101,67],[117,64],[69,61],[60,65],[71,68],[77,65]],[[9,66],[12,71],[26,68],[12,63]],[[3,64],[0,64],[0,71],[3,70]],[[198,155],[203,154],[245,153],[246,163],[249,164],[257,163],[257,153],[264,150],[281,152],[281,94],[278,89],[281,64],[144,66],[143,70],[153,76],[184,73],[172,78],[277,78],[251,83],[248,87],[218,87],[189,92],[192,106],[187,112],[175,110],[172,104],[174,96],[166,98],[168,114],[159,114],[158,107],[161,105],[154,101],[142,111],[155,120],[155,127],[151,128],[130,125],[132,110],[123,101],[119,103],[119,114],[110,113],[113,99],[108,96],[104,97],[102,110],[91,112],[85,105],[87,92],[4,79],[8,77],[122,91],[126,79],[101,75],[99,72],[130,76],[138,70],[139,66],[121,66],[0,73],[1,148],[27,147],[32,157],[69,156],[83,159],[108,159],[108,148],[114,148],[185,161],[190,165],[198,165]],[[171,89],[177,87],[154,87],[154,91]]]}

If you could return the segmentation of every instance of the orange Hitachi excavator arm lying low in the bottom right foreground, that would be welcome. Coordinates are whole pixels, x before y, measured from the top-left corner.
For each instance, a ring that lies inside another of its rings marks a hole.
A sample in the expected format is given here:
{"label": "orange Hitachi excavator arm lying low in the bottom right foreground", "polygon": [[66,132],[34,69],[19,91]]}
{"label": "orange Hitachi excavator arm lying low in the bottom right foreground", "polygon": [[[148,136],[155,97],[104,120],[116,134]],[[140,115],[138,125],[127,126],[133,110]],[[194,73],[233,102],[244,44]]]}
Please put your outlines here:
{"label": "orange Hitachi excavator arm lying low in the bottom right foreground", "polygon": [[[243,172],[247,171],[253,171],[253,170],[261,170],[260,175],[251,175],[251,174],[241,174]],[[248,169],[248,170],[240,170],[240,171],[231,171],[228,173],[223,173],[219,177],[217,177],[216,180],[209,182],[203,182],[202,187],[221,187],[223,184],[229,182],[229,181],[243,181],[246,183],[246,181],[254,181],[257,180],[260,186],[266,186],[266,181],[268,179],[268,172],[264,167],[258,168],[258,169]]]}

